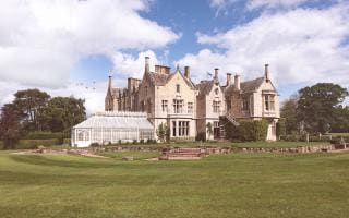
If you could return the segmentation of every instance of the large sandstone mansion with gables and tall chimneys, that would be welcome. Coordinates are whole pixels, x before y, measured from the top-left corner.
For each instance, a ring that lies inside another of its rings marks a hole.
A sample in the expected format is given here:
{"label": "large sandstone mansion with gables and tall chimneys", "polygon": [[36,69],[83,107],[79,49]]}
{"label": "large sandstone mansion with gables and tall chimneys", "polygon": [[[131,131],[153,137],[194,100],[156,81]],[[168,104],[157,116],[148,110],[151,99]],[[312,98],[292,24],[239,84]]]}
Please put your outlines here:
{"label": "large sandstone mansion with gables and tall chimneys", "polygon": [[[266,140],[276,140],[276,122],[279,119],[279,95],[274,87],[265,65],[264,75],[241,82],[239,75],[227,73],[226,84],[218,81],[218,69],[212,80],[192,82],[190,68],[182,73],[177,66],[155,65],[149,70],[149,58],[145,58],[143,78],[128,78],[125,88],[109,85],[105,99],[106,111],[144,111],[154,126],[163,123],[169,129],[171,140],[206,140],[225,137],[221,118],[233,124],[241,119],[265,119],[268,121]],[[210,123],[210,124],[208,124]],[[212,133],[207,131],[212,125]]]}

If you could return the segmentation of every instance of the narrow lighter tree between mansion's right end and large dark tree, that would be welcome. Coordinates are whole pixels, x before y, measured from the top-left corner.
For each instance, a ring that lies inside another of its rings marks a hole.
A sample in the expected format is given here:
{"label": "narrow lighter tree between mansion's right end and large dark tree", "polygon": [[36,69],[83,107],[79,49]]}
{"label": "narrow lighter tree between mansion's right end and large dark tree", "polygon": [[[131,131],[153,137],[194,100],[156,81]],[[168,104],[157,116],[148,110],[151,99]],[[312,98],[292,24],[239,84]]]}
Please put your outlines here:
{"label": "narrow lighter tree between mansion's right end and large dark tree", "polygon": [[282,104],[280,117],[285,119],[285,129],[287,134],[293,134],[298,130],[297,121],[297,96],[291,96]]}

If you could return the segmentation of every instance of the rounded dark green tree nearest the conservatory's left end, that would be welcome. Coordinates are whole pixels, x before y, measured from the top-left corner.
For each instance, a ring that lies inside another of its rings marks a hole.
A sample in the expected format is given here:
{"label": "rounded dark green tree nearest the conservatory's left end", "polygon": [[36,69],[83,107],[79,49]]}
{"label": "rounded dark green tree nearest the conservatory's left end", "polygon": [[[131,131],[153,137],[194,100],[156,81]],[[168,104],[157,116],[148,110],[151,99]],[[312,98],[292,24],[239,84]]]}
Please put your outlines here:
{"label": "rounded dark green tree nearest the conservatory's left end", "polygon": [[44,109],[43,120],[46,130],[70,132],[71,128],[86,119],[83,99],[74,97],[55,97]]}

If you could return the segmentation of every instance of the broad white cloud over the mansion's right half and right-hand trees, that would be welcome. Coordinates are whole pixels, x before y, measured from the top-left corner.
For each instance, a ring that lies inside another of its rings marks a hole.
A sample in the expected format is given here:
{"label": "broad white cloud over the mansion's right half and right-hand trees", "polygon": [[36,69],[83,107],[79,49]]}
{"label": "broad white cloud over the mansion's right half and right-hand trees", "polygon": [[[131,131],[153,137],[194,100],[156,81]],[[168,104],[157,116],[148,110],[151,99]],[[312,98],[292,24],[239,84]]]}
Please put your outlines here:
{"label": "broad white cloud over the mansion's right half and right-hand trees", "polygon": [[179,62],[192,65],[198,77],[203,77],[204,69],[224,66],[225,72],[251,78],[262,75],[264,63],[269,63],[273,77],[281,85],[328,81],[347,86],[348,12],[348,5],[339,4],[326,10],[265,13],[228,32],[198,35],[200,44],[225,51],[204,49]]}

